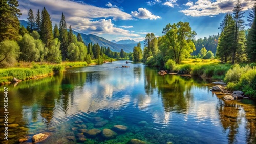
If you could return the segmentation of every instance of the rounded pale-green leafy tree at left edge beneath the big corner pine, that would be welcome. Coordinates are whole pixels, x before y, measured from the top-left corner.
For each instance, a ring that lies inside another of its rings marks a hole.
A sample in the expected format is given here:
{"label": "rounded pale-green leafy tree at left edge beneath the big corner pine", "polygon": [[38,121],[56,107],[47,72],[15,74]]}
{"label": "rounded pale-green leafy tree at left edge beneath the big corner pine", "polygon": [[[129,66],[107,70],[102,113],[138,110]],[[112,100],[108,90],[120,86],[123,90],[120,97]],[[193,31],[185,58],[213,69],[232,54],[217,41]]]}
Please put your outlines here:
{"label": "rounded pale-green leafy tree at left edge beneath the big corner pine", "polygon": [[19,45],[16,41],[4,40],[0,42],[0,64],[16,62],[20,55]]}

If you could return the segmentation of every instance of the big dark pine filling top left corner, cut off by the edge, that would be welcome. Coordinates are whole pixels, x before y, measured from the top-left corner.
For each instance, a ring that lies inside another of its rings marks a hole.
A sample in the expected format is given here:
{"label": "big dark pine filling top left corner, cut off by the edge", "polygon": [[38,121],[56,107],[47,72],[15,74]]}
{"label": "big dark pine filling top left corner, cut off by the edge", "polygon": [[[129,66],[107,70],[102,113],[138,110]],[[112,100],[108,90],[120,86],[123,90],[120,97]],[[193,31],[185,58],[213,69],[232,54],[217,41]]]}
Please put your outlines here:
{"label": "big dark pine filling top left corner, cut off by the edge", "polygon": [[18,17],[22,15],[17,8],[18,1],[16,0],[2,0],[0,1],[0,42],[4,40],[19,39],[19,20]]}

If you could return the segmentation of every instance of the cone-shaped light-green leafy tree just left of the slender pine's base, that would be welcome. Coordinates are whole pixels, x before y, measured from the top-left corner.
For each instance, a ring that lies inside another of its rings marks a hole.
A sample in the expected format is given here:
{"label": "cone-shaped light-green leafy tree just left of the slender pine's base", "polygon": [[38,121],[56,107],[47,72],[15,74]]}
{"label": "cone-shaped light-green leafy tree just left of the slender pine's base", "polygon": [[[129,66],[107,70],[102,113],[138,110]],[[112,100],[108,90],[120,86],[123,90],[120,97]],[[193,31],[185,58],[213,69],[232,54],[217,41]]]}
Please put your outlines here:
{"label": "cone-shaped light-green leafy tree just left of the slender pine's base", "polygon": [[60,41],[55,38],[52,41],[51,47],[49,47],[47,60],[51,63],[61,63],[61,59]]}

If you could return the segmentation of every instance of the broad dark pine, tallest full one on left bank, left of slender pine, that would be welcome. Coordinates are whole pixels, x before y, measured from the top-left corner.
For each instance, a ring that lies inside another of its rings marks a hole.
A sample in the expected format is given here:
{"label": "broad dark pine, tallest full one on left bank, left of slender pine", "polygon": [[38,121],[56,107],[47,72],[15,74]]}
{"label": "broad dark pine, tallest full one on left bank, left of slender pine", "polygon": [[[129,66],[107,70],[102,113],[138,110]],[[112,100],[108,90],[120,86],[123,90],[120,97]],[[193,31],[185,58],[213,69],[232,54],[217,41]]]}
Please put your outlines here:
{"label": "broad dark pine, tallest full one on left bank, left of slender pine", "polygon": [[52,21],[45,7],[41,14],[40,36],[42,42],[46,44],[46,47],[50,47],[53,41]]}

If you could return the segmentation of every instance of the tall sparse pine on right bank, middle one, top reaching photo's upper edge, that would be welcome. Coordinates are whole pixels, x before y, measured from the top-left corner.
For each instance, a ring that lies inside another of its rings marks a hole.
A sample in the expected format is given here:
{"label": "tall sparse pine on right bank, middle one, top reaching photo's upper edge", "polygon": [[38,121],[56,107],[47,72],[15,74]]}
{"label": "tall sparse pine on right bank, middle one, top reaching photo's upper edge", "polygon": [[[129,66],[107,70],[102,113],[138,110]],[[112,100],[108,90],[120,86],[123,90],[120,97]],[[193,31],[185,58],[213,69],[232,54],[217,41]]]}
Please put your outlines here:
{"label": "tall sparse pine on right bank, middle one, top reaching photo's upper edge", "polygon": [[232,64],[234,64],[235,60],[236,60],[236,53],[237,51],[240,51],[238,49],[241,49],[241,47],[239,47],[239,43],[242,42],[242,40],[240,39],[240,36],[242,33],[241,31],[244,30],[244,23],[245,21],[242,19],[244,17],[244,12],[242,12],[243,8],[242,8],[242,4],[240,2],[240,0],[237,0],[237,3],[234,6],[233,9],[233,14],[234,14],[234,20],[236,21],[236,25],[235,25],[235,32],[234,32],[234,47],[233,47],[233,56],[232,56]]}

